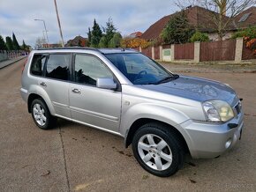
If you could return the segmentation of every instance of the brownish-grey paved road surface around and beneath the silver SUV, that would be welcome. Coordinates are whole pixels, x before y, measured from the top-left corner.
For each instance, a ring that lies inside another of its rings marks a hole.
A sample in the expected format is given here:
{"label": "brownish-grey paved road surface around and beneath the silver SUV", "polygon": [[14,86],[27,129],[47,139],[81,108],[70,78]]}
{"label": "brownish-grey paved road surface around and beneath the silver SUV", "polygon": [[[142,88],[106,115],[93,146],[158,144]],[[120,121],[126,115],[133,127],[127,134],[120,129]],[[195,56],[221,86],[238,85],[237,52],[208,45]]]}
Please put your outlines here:
{"label": "brownish-grey paved road surface around and beneath the silver SUV", "polygon": [[66,121],[38,129],[19,95],[23,63],[0,70],[0,191],[256,191],[255,74],[186,74],[232,85],[244,98],[245,131],[220,158],[187,158],[176,175],[159,178],[120,137]]}

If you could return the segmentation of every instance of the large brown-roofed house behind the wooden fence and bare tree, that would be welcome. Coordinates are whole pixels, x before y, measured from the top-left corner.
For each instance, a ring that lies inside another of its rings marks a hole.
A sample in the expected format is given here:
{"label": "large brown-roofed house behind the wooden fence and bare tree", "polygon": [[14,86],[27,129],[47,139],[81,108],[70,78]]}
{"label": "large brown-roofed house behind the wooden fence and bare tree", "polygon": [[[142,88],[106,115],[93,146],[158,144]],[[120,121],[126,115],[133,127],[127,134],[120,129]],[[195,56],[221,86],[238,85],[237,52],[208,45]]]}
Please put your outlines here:
{"label": "large brown-roofed house behind the wooden fence and bare tree", "polygon": [[[213,22],[213,16],[217,15],[218,13],[214,11],[209,11],[200,6],[192,6],[184,10],[188,22],[194,26],[197,30],[202,33],[208,33],[209,39],[212,41],[217,41],[218,34],[215,30],[215,23]],[[246,14],[248,13],[248,14]],[[141,35],[142,39],[147,41],[158,40],[160,38],[160,34],[162,33],[163,28],[167,25],[169,18],[173,17],[174,15],[178,14],[178,12],[165,16],[158,21],[156,21],[152,26],[146,30],[145,33]],[[244,15],[249,15],[245,17]],[[239,22],[239,19],[244,16],[243,21]],[[227,33],[223,37],[223,39],[229,39],[232,33],[236,32],[237,29],[241,27],[248,27],[250,25],[255,25],[256,23],[256,7],[251,7],[250,9],[240,13],[235,18],[235,21],[230,22],[229,26],[227,26]],[[223,15],[224,22],[230,19],[229,17]],[[244,20],[245,19],[245,20]],[[237,24],[237,25],[236,25]]]}

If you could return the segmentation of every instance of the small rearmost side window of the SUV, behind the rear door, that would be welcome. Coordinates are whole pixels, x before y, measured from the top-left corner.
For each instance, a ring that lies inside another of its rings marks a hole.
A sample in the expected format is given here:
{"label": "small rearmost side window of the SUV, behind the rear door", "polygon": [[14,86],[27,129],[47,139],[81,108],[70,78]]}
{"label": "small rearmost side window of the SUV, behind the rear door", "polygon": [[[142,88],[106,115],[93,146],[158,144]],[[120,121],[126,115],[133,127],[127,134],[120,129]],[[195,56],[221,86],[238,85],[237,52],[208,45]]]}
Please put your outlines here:
{"label": "small rearmost side window of the SUV, behind the rear door", "polygon": [[42,76],[43,66],[47,55],[35,54],[31,63],[30,72],[36,76]]}

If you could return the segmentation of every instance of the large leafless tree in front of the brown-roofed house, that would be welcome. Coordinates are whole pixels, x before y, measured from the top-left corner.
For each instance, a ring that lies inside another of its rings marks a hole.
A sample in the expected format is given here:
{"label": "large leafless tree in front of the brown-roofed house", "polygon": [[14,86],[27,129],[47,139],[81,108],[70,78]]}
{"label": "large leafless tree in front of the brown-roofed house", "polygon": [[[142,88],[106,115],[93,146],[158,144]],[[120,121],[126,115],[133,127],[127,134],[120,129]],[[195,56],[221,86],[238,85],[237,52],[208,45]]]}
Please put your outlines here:
{"label": "large leafless tree in front of the brown-roofed house", "polygon": [[199,5],[210,10],[211,22],[215,25],[218,40],[222,41],[228,29],[237,29],[234,18],[256,4],[256,0],[177,0],[176,4],[181,9],[190,5]]}

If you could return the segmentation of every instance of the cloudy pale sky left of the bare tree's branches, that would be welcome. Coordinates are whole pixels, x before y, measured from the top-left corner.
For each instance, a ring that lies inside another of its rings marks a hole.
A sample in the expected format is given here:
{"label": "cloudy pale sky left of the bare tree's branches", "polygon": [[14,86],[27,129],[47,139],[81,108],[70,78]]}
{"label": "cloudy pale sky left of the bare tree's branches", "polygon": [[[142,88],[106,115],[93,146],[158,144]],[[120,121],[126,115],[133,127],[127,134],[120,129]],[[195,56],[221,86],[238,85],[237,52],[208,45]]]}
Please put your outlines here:
{"label": "cloudy pale sky left of the bare tree's branches", "polygon": [[[159,18],[177,11],[174,0],[56,0],[64,33],[64,41],[76,35],[87,37],[88,27],[94,18],[105,26],[108,18],[122,35],[144,32]],[[49,43],[60,41],[54,0],[0,0],[0,34],[4,37],[15,33],[19,44],[22,40],[34,47],[37,37],[42,37],[44,19]]]}

